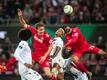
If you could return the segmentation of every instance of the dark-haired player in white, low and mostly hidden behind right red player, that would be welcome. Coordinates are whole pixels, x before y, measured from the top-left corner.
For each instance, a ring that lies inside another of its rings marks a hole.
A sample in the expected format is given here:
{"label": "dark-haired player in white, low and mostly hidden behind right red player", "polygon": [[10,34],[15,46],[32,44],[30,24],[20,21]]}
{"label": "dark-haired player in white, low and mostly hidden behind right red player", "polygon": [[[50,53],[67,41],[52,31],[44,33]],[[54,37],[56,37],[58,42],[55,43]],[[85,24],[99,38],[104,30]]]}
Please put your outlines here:
{"label": "dark-haired player in white, low and mostly hidden behind right red player", "polygon": [[[64,55],[63,57],[68,58],[70,56],[70,54],[72,53],[71,48],[67,47],[65,50],[62,51],[62,55]],[[69,67],[67,67],[69,66]],[[74,80],[88,80],[88,76],[85,72],[81,72],[77,66],[71,62],[71,59],[68,58],[65,60],[65,64],[64,67],[67,67],[66,69],[69,69],[69,71],[74,74]]]}

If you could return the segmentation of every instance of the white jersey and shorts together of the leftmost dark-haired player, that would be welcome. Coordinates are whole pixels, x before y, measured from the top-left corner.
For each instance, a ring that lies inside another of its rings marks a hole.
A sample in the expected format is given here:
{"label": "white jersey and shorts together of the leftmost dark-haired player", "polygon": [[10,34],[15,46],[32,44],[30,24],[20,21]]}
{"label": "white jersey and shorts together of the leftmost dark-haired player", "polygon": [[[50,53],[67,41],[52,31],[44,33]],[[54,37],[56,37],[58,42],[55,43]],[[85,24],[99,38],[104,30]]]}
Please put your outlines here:
{"label": "white jersey and shorts together of the leftmost dark-haired player", "polygon": [[15,50],[14,56],[18,61],[19,74],[21,75],[21,80],[40,80],[41,75],[27,68],[24,64],[28,63],[32,65],[32,55],[31,49],[26,41],[21,41]]}

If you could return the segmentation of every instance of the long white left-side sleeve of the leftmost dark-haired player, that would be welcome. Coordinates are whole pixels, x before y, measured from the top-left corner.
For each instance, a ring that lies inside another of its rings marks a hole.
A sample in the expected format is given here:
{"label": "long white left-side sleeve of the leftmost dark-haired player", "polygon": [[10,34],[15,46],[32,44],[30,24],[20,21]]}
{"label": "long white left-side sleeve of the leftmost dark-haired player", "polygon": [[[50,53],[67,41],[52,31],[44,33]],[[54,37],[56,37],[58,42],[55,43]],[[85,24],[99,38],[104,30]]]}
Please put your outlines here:
{"label": "long white left-side sleeve of the leftmost dark-haired player", "polygon": [[25,64],[25,61],[22,59],[21,54],[23,53],[25,46],[26,45],[24,43],[19,44],[14,53],[14,57],[16,58],[16,60],[20,61],[23,64]]}

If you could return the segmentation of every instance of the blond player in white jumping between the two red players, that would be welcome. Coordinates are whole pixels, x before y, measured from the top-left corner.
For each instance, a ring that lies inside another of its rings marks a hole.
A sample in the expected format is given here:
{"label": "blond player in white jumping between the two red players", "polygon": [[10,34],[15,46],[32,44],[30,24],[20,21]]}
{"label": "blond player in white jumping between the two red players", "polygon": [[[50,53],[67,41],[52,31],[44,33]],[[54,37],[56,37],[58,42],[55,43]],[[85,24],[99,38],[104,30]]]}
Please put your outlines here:
{"label": "blond player in white jumping between the two red players", "polygon": [[63,79],[63,64],[64,64],[64,59],[61,57],[62,53],[62,48],[63,48],[63,40],[61,39],[62,35],[64,34],[64,30],[62,28],[59,28],[56,33],[55,33],[55,38],[53,40],[53,48],[50,53],[50,56],[52,58],[52,72],[56,75],[60,74],[61,79]]}

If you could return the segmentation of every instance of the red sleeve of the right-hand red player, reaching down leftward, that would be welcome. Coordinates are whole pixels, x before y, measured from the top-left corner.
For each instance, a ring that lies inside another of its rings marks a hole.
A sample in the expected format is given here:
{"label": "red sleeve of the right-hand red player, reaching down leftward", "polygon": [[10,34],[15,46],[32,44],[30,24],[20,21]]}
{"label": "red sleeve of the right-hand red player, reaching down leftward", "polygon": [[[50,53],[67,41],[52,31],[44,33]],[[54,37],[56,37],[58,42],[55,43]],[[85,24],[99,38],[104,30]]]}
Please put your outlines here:
{"label": "red sleeve of the right-hand red player, reaching down leftward", "polygon": [[79,37],[79,30],[75,30],[75,32],[72,33],[72,37],[68,42],[65,44],[65,46],[71,46],[73,43],[77,42],[77,39]]}

